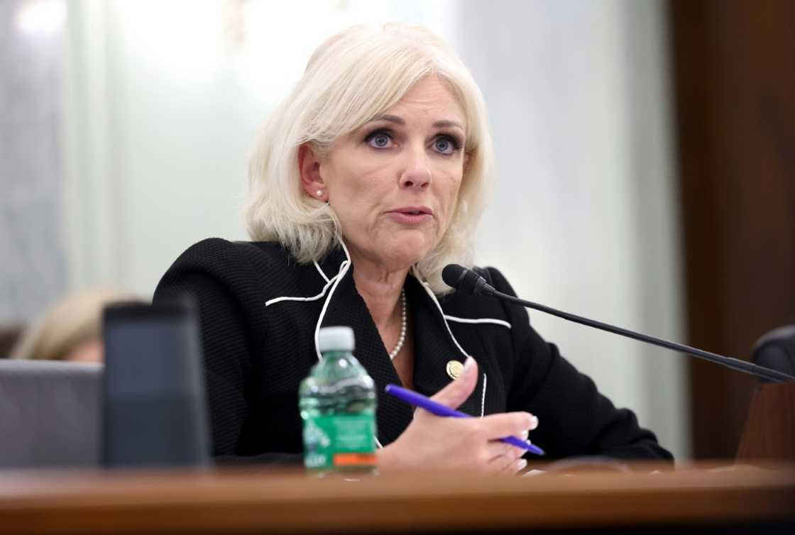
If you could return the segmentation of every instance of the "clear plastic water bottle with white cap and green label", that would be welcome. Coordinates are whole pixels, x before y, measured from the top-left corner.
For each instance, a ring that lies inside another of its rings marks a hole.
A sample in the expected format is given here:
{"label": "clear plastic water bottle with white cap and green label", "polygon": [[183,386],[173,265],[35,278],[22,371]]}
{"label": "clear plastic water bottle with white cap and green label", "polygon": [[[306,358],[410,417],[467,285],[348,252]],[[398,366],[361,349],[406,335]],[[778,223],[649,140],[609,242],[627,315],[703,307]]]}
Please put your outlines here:
{"label": "clear plastic water bottle with white cap and green label", "polygon": [[304,466],[329,471],[375,470],[375,385],[353,356],[349,327],[320,329],[323,359],[298,390],[304,421]]}

